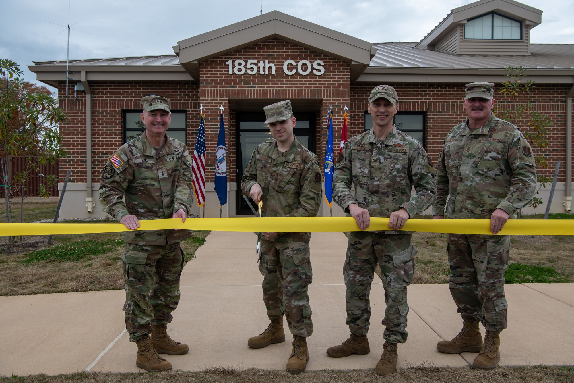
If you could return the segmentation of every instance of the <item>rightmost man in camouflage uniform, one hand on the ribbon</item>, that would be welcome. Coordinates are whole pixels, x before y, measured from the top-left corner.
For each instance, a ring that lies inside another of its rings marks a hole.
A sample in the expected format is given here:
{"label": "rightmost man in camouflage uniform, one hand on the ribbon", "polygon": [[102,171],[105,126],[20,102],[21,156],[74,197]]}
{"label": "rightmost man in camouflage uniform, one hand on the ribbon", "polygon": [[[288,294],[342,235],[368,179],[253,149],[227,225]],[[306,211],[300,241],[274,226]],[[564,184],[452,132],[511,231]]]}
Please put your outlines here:
{"label": "rightmost man in camouflage uniform, one hand on the ribbon", "polygon": [[[488,82],[466,85],[468,119],[444,140],[433,206],[435,219],[446,213],[449,218],[491,220],[493,235],[448,235],[449,289],[463,328],[436,346],[443,353],[479,353],[472,363],[478,369],[497,366],[499,335],[506,328],[504,273],[510,236],[495,234],[532,200],[536,187],[532,148],[517,127],[492,114],[493,87]],[[486,328],[484,343],[479,321]]]}

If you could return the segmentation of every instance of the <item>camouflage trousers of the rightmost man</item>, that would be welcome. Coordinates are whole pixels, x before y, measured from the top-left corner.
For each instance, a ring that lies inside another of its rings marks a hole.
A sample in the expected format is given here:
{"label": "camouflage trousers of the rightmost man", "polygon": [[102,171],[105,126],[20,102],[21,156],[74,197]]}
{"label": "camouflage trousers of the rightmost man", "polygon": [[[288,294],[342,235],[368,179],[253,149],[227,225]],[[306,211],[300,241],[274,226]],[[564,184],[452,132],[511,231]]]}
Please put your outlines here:
{"label": "camouflage trousers of the rightmost man", "polygon": [[489,331],[506,328],[504,273],[510,236],[448,235],[448,287],[463,319],[482,322]]}

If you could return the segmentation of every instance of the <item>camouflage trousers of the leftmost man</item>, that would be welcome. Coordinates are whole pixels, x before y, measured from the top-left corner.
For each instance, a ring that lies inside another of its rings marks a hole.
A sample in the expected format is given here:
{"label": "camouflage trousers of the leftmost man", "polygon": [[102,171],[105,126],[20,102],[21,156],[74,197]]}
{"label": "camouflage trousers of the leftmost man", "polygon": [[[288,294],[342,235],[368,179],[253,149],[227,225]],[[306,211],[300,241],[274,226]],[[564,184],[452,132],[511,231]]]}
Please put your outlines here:
{"label": "camouflage trousers of the leftmost man", "polygon": [[183,252],[179,242],[166,246],[126,243],[126,254],[146,254],[145,263],[123,263],[126,303],[123,306],[130,342],[152,332],[152,324],[172,321],[180,299]]}

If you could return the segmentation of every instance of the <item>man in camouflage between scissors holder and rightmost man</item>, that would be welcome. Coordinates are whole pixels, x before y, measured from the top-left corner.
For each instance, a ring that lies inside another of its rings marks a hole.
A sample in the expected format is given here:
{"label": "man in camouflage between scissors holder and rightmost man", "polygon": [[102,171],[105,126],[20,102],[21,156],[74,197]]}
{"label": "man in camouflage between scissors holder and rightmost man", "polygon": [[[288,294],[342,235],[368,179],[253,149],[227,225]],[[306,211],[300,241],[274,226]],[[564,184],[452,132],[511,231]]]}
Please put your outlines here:
{"label": "man in camouflage between scissors holder and rightmost man", "polygon": [[[369,293],[378,263],[386,302],[382,321],[386,342],[375,367],[379,375],[397,369],[397,343],[405,343],[408,335],[406,288],[413,278],[417,251],[411,244],[412,232],[397,230],[435,200],[435,167],[417,140],[395,128],[397,110],[393,87],[380,85],[371,91],[373,129],[345,143],[333,176],[333,199],[362,231],[349,233],[343,266],[351,337],[330,347],[327,354],[333,358],[369,354]],[[416,194],[411,197],[413,186]],[[363,231],[369,227],[370,216],[389,217],[390,230]]]}

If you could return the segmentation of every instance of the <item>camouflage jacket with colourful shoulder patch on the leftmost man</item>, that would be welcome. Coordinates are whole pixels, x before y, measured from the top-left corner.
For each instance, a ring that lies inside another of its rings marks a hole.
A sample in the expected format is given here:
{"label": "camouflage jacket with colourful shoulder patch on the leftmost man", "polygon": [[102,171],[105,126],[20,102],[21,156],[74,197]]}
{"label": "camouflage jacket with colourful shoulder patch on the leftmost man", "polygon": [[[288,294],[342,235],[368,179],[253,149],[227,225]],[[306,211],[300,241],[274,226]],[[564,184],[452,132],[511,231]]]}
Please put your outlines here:
{"label": "camouflage jacket with colourful shoulder patch on the leftmost man", "polygon": [[[119,158],[117,167],[113,159]],[[187,215],[193,202],[191,158],[185,144],[166,136],[159,154],[145,132],[111,156],[102,172],[100,202],[104,212],[117,221],[127,215],[138,220],[171,218],[183,209]],[[122,200],[125,197],[125,202]],[[126,243],[165,245],[193,235],[189,230],[129,231]]]}

